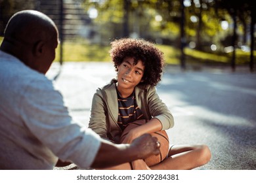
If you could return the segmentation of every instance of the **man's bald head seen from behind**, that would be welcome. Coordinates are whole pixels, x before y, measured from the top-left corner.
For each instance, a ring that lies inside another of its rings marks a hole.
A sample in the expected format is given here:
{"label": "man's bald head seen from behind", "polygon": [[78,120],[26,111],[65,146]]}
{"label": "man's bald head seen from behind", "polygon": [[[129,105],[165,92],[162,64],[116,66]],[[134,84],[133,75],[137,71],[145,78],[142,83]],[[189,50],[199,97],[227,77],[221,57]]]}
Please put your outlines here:
{"label": "man's bald head seen from behind", "polygon": [[57,46],[58,30],[53,20],[35,10],[22,10],[10,18],[0,50],[45,74]]}

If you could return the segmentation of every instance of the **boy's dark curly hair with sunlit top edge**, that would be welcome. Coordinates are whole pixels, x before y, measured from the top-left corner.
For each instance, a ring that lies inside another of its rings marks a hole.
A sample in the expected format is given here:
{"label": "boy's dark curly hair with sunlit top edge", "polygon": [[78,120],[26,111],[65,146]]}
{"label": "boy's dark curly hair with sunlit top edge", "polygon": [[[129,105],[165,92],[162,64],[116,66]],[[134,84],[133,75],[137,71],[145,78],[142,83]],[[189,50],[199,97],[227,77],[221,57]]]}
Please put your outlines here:
{"label": "boy's dark curly hair with sunlit top edge", "polygon": [[123,59],[131,57],[135,59],[135,64],[139,60],[145,66],[142,80],[145,84],[156,86],[161,80],[163,73],[164,58],[163,52],[154,46],[152,42],[144,39],[123,38],[110,42],[110,57],[114,62],[114,67],[121,65]]}

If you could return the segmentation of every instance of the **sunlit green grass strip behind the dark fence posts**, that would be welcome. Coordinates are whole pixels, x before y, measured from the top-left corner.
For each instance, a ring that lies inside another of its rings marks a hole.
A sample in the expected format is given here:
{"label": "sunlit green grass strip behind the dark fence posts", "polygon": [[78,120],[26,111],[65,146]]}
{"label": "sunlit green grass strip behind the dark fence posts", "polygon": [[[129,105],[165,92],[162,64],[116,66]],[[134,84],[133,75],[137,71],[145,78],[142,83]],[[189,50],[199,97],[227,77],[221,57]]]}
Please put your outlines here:
{"label": "sunlit green grass strip behind the dark fence posts", "polygon": [[[0,43],[3,37],[0,37]],[[174,46],[156,45],[164,54],[167,64],[178,65],[180,50]],[[98,44],[81,44],[74,42],[64,42],[63,44],[63,61],[110,61],[108,51],[110,46],[102,46]],[[215,52],[202,52],[185,48],[186,63],[188,64],[230,64],[232,53],[217,54]],[[256,51],[254,52],[254,55]],[[56,58],[54,61],[60,60],[60,45],[56,49]],[[249,52],[243,52],[240,49],[236,50],[236,65],[244,65],[249,63]]]}

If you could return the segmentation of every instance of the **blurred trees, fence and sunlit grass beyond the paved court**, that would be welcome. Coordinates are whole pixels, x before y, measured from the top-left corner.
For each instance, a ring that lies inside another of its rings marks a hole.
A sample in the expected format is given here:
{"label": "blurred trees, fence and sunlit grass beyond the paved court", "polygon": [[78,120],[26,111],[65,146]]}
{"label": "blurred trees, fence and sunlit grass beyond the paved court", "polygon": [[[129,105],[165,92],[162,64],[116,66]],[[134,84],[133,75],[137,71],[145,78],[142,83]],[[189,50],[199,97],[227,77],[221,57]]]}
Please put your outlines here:
{"label": "blurred trees, fence and sunlit grass beyond the paved court", "polygon": [[[0,0],[0,42],[19,10],[50,16],[60,33],[55,61],[110,61],[110,41],[155,42],[169,65],[245,67],[253,72],[253,1],[228,0]],[[254,53],[253,53],[254,52]]]}

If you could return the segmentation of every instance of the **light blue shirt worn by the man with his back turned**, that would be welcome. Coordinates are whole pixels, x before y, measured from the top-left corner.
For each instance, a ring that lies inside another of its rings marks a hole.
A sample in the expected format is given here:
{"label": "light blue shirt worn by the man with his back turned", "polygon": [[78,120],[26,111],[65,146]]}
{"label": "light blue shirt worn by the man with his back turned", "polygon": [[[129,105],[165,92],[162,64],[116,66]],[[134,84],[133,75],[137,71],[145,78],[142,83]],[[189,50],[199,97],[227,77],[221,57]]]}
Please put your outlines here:
{"label": "light blue shirt worn by the man with his back turned", "polygon": [[45,75],[0,51],[0,169],[90,167],[100,137],[74,122]]}

